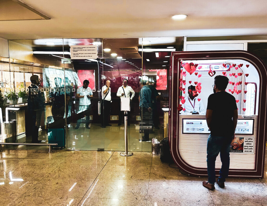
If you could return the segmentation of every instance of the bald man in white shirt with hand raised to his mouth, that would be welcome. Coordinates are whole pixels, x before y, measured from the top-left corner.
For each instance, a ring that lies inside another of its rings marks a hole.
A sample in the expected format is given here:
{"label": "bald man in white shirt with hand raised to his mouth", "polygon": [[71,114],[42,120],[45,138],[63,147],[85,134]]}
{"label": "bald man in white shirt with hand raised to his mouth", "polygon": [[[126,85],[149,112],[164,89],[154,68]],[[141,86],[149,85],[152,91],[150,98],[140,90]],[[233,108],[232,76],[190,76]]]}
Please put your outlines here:
{"label": "bald man in white shirt with hand raised to his mouth", "polygon": [[108,124],[109,112],[111,107],[111,89],[110,81],[107,80],[106,84],[101,89],[103,103],[101,104],[101,127],[105,128],[106,126],[112,126]]}

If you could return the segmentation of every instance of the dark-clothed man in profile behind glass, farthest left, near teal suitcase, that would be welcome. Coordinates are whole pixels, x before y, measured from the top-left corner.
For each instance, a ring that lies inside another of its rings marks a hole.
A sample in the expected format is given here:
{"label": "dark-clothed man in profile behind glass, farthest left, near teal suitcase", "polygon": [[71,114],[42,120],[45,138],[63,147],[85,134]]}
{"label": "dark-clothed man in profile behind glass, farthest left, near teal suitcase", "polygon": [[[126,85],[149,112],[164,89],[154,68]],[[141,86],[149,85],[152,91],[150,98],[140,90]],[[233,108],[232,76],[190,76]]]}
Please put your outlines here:
{"label": "dark-clothed man in profile behind glass, farthest left, near teal suitcase", "polygon": [[44,92],[40,92],[40,79],[37,75],[30,77],[32,84],[28,87],[28,114],[31,117],[32,143],[40,143],[38,133],[41,124],[41,116],[44,112]]}

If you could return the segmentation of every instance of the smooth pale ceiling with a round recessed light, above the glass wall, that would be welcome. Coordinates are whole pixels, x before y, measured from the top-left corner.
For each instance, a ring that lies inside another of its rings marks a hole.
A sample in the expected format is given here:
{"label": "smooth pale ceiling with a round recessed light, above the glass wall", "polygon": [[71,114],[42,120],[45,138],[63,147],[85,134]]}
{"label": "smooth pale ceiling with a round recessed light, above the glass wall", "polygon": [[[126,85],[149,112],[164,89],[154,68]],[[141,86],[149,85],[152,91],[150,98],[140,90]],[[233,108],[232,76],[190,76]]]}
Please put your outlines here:
{"label": "smooth pale ceiling with a round recessed light, above the glass wall", "polygon": [[[118,38],[267,34],[266,0],[23,0],[50,20],[0,21],[0,37]],[[9,8],[12,11],[12,8]],[[186,14],[174,21],[174,14]]]}

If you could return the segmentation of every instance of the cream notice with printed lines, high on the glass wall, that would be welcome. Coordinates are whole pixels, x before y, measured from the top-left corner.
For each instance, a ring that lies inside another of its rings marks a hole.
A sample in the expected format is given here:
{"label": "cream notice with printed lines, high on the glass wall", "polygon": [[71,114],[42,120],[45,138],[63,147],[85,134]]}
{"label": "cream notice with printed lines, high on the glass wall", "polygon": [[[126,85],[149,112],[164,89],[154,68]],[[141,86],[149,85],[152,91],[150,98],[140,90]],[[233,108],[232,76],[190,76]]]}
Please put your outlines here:
{"label": "cream notice with printed lines, high on the glass wall", "polygon": [[96,59],[97,45],[70,46],[71,59]]}

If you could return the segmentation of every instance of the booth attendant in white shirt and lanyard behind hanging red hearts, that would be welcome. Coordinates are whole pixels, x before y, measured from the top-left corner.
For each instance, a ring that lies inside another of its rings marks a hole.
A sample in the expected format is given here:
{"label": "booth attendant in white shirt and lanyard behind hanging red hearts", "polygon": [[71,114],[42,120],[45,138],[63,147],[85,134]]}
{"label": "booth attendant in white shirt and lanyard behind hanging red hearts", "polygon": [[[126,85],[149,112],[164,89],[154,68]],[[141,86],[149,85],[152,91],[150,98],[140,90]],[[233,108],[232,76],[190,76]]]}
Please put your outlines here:
{"label": "booth attendant in white shirt and lanyard behind hanging red hearts", "polygon": [[193,85],[188,87],[188,96],[184,98],[184,104],[182,104],[184,100],[181,100],[182,107],[185,108],[181,114],[206,114],[202,100],[197,97],[198,94],[193,93],[195,90]]}

